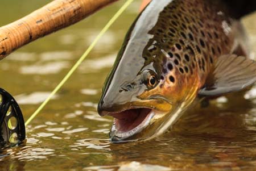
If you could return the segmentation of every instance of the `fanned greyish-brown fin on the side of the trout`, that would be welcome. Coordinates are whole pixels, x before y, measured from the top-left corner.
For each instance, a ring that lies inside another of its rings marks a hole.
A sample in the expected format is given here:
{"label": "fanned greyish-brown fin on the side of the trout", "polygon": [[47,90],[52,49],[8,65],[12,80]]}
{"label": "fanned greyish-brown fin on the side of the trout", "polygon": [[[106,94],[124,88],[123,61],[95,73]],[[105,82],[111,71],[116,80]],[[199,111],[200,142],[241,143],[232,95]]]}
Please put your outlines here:
{"label": "fanned greyish-brown fin on the side of the trout", "polygon": [[256,82],[256,62],[244,56],[220,56],[210,72],[202,96],[218,96],[239,91]]}

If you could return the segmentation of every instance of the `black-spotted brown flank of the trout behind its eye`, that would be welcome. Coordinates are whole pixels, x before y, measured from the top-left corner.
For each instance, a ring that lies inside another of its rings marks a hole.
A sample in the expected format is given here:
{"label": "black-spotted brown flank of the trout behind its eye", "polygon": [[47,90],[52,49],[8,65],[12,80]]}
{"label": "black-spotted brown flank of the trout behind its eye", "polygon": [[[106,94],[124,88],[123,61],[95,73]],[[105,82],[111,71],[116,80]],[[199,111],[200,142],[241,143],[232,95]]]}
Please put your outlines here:
{"label": "black-spotted brown flank of the trout behind its eye", "polygon": [[220,2],[169,3],[148,32],[154,37],[143,51],[145,64],[153,62],[160,75],[159,93],[169,90],[167,94],[179,94],[183,98],[186,87],[204,86],[214,60],[234,51],[233,23],[234,19],[220,7]]}

